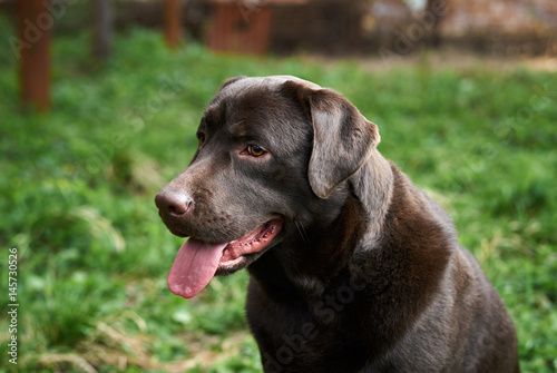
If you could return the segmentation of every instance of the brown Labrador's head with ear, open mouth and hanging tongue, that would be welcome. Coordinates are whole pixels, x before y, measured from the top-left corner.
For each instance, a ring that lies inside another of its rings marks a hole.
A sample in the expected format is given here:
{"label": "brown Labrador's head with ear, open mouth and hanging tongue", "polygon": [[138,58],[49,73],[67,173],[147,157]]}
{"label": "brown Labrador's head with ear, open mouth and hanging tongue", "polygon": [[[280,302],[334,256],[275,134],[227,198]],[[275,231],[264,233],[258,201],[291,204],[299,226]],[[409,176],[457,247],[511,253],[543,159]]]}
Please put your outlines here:
{"label": "brown Labrador's head with ear, open mouth and hanging tongue", "polygon": [[344,181],[379,143],[343,96],[284,76],[226,81],[197,138],[190,165],[155,199],[170,232],[190,237],[168,275],[184,297],[299,236],[299,226],[331,224]]}

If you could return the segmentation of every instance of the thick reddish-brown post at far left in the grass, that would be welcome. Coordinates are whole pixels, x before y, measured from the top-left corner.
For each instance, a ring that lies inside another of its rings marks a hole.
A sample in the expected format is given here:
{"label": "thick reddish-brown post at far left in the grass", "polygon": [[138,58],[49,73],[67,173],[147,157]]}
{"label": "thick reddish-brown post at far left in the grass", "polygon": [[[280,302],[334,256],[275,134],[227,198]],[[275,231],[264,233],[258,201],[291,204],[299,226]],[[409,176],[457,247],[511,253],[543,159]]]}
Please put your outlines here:
{"label": "thick reddish-brown post at far left in the grass", "polygon": [[20,50],[19,78],[25,108],[50,108],[50,40],[55,18],[48,1],[18,1],[18,33],[25,46]]}

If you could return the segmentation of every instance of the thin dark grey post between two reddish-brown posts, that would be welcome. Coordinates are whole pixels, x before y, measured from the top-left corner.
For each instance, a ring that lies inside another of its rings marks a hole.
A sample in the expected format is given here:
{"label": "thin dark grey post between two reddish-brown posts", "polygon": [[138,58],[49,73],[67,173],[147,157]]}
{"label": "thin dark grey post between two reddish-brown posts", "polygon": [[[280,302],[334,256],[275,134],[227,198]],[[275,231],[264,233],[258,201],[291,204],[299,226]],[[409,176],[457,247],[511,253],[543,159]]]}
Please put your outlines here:
{"label": "thin dark grey post between two reddish-brown posts", "polygon": [[92,0],[92,56],[101,61],[110,55],[113,38],[111,0]]}

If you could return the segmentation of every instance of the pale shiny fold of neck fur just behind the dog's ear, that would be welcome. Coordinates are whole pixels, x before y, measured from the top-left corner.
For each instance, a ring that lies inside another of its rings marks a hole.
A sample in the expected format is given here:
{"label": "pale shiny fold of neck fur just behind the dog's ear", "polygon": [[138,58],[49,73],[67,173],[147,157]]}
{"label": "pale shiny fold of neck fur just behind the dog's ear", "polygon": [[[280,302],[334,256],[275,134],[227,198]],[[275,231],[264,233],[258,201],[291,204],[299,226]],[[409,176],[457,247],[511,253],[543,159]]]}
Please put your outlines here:
{"label": "pale shiny fold of neck fur just behind the dog's ear", "polygon": [[375,149],[350,179],[352,194],[362,204],[369,223],[356,252],[373,248],[391,204],[394,176],[391,164]]}

